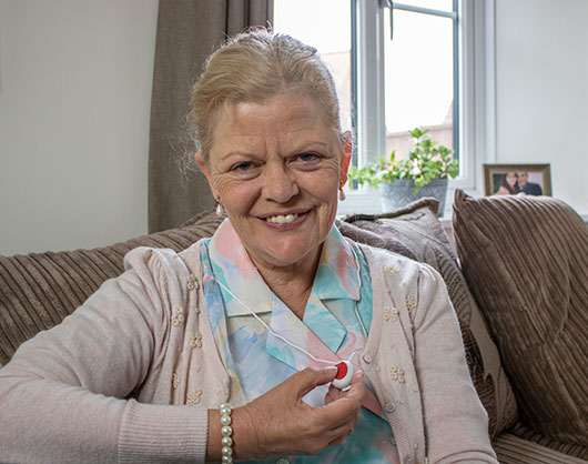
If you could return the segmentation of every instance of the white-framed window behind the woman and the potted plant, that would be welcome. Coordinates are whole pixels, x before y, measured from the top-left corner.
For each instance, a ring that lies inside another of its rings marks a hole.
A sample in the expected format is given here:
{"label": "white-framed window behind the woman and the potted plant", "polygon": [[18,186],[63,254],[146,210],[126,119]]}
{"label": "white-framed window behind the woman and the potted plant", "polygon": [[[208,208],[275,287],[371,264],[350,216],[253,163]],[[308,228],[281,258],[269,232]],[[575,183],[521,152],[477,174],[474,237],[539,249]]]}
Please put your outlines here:
{"label": "white-framed window behind the woman and the potted plant", "polygon": [[[334,74],[355,163],[402,158],[423,127],[459,159],[450,186],[479,191],[494,161],[493,18],[494,0],[274,0],[274,29],[316,47]],[[352,191],[339,213],[379,212],[377,195]]]}

